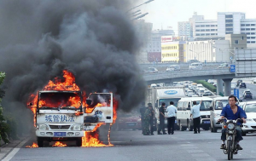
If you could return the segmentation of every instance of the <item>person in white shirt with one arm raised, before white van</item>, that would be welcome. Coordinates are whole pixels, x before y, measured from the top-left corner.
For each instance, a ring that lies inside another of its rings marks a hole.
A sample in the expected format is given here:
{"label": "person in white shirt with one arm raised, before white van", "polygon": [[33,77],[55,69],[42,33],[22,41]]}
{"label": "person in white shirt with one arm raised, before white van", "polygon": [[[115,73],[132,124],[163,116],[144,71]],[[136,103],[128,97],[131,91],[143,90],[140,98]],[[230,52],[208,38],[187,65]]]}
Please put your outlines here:
{"label": "person in white shirt with one arm raised, before white van", "polygon": [[193,116],[193,124],[194,124],[194,134],[200,133],[200,106],[201,106],[201,101],[198,105],[196,105],[196,101],[193,101],[193,106],[190,112],[190,117]]}

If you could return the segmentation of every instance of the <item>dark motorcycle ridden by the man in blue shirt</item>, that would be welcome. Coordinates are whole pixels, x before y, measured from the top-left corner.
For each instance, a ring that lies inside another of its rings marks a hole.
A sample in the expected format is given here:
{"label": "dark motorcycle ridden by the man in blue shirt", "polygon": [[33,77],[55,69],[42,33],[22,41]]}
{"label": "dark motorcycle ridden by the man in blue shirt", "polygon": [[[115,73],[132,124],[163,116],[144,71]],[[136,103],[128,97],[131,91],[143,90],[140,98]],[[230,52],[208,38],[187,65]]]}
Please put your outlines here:
{"label": "dark motorcycle ridden by the man in blue shirt", "polygon": [[[224,122],[224,119],[226,119],[226,122]],[[223,118],[221,121],[221,124],[224,129],[226,129],[226,138],[227,138],[227,144],[225,144],[224,148],[224,154],[228,154],[228,159],[231,160],[233,158],[233,154],[238,153],[238,149],[236,148],[236,124],[240,121],[242,123],[242,120],[240,118],[237,118],[236,120],[228,120],[227,118]],[[240,125],[242,127],[242,124]]]}

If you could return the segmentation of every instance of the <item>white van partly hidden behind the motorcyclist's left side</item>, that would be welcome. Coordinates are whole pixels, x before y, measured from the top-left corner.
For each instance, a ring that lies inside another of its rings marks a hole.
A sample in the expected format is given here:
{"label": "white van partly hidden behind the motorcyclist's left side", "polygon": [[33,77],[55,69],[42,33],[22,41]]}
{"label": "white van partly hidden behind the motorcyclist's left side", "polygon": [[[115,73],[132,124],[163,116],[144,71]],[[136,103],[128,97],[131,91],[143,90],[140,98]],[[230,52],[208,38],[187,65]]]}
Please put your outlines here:
{"label": "white van partly hidden behind the motorcyclist's left side", "polygon": [[220,118],[220,113],[222,112],[222,108],[229,103],[229,97],[215,97],[212,99],[211,105],[211,132],[216,133],[217,129],[221,129],[221,124],[218,123],[218,118]]}

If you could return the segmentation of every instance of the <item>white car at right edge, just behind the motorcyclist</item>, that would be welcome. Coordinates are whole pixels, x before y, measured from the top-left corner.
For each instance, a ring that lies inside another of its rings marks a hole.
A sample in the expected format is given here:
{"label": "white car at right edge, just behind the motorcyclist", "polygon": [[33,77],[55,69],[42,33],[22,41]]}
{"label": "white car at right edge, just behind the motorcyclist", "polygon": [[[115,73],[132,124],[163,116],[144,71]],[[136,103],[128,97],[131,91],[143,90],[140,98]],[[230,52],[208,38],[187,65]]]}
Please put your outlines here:
{"label": "white car at right edge, just behind the motorcyclist", "polygon": [[256,131],[256,101],[247,101],[242,108],[247,114],[247,123],[243,124],[241,135],[247,135]]}

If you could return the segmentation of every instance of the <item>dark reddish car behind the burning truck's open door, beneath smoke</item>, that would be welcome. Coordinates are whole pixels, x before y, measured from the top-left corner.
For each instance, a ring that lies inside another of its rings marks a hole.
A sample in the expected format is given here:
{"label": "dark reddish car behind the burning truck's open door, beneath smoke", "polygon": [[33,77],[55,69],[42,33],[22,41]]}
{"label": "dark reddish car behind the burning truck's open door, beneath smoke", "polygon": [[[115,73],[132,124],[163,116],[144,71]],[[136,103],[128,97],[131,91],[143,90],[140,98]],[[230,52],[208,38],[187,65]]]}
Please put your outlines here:
{"label": "dark reddish car behind the burning truck's open door, beneath smoke", "polygon": [[141,118],[137,115],[121,113],[116,121],[115,129],[142,129]]}

